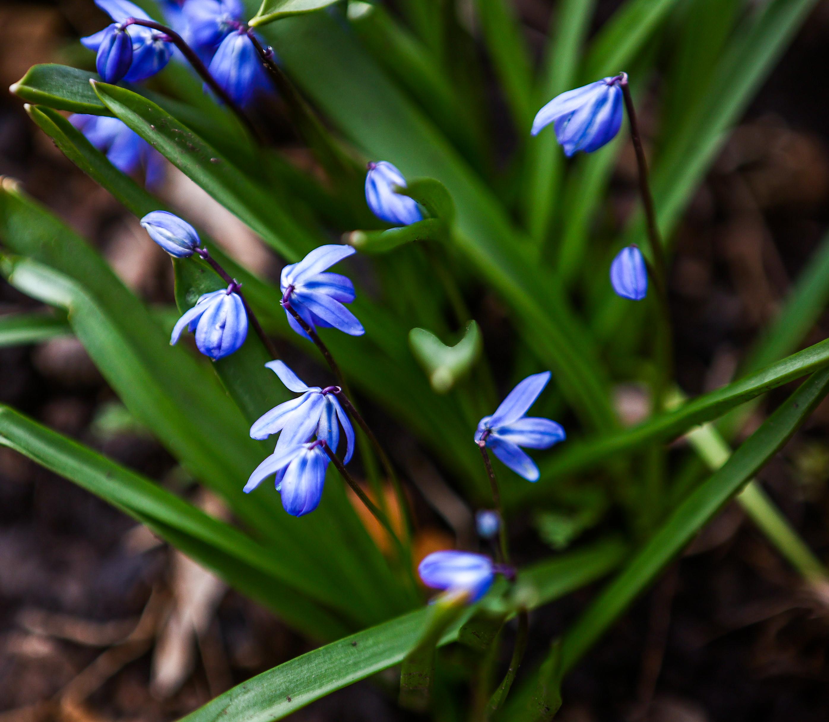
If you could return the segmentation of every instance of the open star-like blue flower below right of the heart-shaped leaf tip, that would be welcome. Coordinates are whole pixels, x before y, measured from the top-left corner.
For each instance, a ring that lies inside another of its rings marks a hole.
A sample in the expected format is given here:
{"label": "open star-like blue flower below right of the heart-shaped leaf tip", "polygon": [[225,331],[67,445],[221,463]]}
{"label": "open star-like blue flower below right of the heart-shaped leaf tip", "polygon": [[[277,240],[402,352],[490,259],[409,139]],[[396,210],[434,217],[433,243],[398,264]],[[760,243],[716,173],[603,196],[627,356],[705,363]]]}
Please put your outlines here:
{"label": "open star-like blue flower below right of the heart-shaped leaf tip", "polygon": [[528,482],[538,481],[538,467],[519,447],[550,448],[566,437],[565,430],[555,421],[526,416],[549,380],[550,371],[527,376],[492,416],[484,416],[478,422],[475,432],[476,443],[492,448],[497,458]]}

